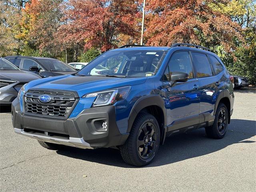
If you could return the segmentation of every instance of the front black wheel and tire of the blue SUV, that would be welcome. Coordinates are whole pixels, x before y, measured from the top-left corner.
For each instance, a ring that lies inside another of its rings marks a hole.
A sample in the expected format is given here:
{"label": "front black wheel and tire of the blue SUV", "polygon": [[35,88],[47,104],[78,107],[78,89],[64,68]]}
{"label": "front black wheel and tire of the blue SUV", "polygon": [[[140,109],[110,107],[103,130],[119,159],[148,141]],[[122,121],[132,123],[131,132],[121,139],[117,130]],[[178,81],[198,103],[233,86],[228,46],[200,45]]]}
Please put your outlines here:
{"label": "front black wheel and tire of the blue SUV", "polygon": [[144,166],[156,156],[159,144],[160,128],[156,118],[148,113],[140,113],[134,120],[128,139],[119,149],[124,162]]}

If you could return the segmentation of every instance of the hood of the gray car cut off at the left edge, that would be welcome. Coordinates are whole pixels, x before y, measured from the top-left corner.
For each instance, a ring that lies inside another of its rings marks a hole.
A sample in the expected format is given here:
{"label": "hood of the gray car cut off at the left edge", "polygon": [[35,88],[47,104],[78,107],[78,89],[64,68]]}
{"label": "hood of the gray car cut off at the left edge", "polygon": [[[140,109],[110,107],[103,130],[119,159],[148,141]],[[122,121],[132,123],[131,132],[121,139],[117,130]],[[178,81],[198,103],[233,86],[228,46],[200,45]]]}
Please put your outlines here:
{"label": "hood of the gray car cut off at the left edge", "polygon": [[27,72],[23,70],[10,70],[10,71],[0,70],[0,78],[12,79],[18,82],[30,82],[32,80],[39,79],[41,77],[32,72]]}

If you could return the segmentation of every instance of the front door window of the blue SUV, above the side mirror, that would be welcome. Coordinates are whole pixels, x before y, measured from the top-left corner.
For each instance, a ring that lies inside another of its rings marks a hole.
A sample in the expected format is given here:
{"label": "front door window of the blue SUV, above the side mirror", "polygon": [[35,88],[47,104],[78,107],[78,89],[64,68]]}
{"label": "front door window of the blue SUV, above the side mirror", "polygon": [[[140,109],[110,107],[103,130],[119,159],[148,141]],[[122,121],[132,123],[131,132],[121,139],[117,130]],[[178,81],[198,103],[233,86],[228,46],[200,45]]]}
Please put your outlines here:
{"label": "front door window of the blue SUV, above the side mirror", "polygon": [[[172,55],[168,67],[164,72],[163,80],[169,80],[172,72],[184,72],[187,73],[189,78],[193,78],[192,64],[190,60],[189,53],[187,51],[176,52]],[[170,70],[170,72],[169,72]]]}

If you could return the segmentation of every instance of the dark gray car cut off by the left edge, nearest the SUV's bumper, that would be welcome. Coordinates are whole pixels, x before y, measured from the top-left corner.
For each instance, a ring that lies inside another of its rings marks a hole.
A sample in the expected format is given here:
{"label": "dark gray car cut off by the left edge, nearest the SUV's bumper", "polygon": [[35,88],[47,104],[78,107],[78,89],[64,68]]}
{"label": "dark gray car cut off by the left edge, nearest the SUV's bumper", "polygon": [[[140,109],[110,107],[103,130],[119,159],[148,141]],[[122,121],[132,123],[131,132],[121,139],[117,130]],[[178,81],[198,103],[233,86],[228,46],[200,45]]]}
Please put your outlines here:
{"label": "dark gray car cut off by the left edge, nearest the SUV's bumper", "polygon": [[11,104],[24,84],[39,78],[39,75],[20,70],[6,59],[0,58],[0,105]]}

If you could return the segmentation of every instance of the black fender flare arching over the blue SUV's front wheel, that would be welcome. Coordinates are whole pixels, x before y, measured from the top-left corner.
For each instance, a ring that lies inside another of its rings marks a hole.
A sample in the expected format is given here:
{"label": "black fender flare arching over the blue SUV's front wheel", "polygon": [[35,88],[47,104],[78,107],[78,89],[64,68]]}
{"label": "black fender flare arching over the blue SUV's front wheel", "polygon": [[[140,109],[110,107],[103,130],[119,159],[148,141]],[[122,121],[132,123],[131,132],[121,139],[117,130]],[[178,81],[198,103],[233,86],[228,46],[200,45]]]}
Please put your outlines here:
{"label": "black fender flare arching over the blue SUV's front wheel", "polygon": [[132,110],[129,114],[128,117],[128,129],[127,132],[130,132],[130,130],[132,129],[132,124],[136,118],[136,116],[138,115],[138,113],[143,109],[146,108],[148,106],[158,106],[162,109],[163,114],[164,114],[164,126],[166,126],[166,110],[164,107],[164,100],[161,96],[159,95],[147,95],[147,96],[142,96],[141,98],[139,98],[134,106],[132,107]]}

